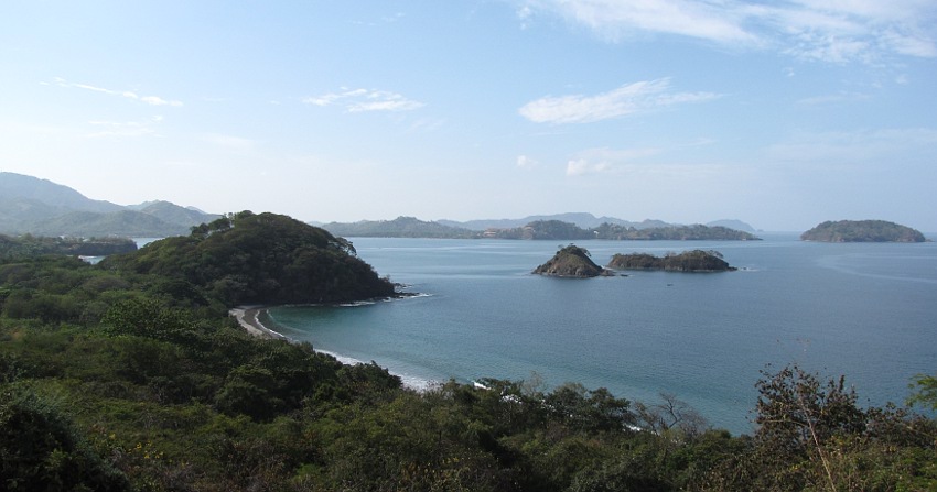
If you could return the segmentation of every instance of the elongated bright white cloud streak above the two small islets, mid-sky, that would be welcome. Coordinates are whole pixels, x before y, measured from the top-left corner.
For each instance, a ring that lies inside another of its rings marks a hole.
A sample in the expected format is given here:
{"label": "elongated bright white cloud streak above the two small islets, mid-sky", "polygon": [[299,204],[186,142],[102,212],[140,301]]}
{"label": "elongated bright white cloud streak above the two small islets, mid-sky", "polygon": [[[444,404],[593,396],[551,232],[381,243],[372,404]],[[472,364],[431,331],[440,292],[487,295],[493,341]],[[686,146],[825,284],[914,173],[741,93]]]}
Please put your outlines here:
{"label": "elongated bright white cloud streak above the two small islets, mid-sky", "polygon": [[712,92],[670,92],[670,79],[627,84],[595,96],[545,97],[518,112],[536,123],[589,123],[686,102],[715,99]]}

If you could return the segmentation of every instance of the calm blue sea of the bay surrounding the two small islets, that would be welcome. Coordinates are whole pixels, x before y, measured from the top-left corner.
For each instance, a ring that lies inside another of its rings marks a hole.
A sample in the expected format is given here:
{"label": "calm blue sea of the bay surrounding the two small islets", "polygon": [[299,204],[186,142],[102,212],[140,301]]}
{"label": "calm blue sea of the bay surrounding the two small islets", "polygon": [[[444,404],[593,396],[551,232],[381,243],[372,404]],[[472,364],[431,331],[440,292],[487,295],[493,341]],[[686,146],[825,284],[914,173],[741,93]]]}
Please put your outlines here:
{"label": "calm blue sea of the bay surrounding the two small islets", "polygon": [[552,278],[530,271],[554,241],[354,239],[380,275],[426,296],[271,309],[272,328],[410,384],[477,378],[579,382],[750,433],[767,364],[846,374],[860,401],[901,403],[937,373],[937,243],[580,241],[614,253],[720,251],[737,272]]}

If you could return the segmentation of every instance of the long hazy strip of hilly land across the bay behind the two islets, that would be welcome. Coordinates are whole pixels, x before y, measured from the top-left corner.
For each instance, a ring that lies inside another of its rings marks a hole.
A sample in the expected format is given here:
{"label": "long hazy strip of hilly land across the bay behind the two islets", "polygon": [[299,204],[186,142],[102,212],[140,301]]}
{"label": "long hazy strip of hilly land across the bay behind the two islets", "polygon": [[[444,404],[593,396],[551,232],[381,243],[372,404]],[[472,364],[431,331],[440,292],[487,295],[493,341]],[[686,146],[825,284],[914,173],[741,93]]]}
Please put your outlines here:
{"label": "long hazy strip of hilly land across the bay behind the two islets", "polygon": [[471,230],[440,222],[427,222],[413,217],[394,220],[363,220],[353,223],[331,222],[322,228],[345,238],[445,238],[445,239],[521,239],[550,241],[604,240],[670,240],[670,241],[756,241],[750,232],[723,226],[678,226],[655,221],[650,227],[602,222],[580,227],[562,220],[535,220],[520,227]]}

